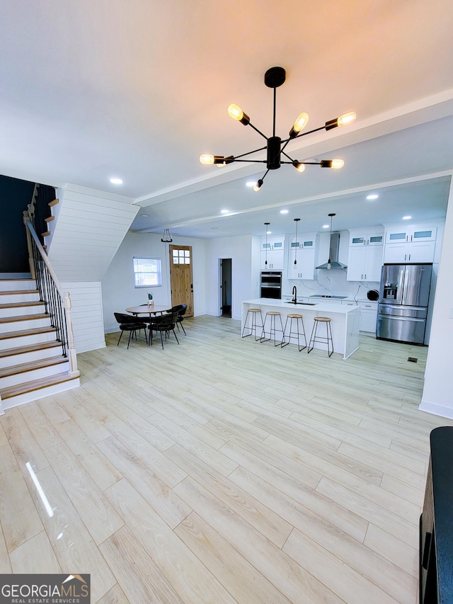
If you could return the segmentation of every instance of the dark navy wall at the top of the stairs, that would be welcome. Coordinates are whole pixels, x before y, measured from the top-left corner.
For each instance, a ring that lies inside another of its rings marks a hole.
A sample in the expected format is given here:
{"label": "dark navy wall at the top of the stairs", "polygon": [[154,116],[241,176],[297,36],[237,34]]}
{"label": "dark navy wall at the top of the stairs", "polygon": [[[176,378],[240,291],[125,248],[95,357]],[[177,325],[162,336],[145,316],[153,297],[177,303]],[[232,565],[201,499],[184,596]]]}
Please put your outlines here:
{"label": "dark navy wall at the top of the stairs", "polygon": [[0,176],[0,273],[29,273],[23,225],[35,183]]}

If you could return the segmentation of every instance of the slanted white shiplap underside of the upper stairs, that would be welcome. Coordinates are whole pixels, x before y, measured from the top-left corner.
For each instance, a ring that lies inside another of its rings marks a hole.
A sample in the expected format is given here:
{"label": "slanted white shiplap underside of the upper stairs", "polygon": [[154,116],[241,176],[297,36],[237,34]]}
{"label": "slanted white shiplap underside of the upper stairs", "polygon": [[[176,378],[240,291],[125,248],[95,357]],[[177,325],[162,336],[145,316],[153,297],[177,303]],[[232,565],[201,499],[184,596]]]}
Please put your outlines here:
{"label": "slanted white shiplap underside of the upper stairs", "polygon": [[[133,199],[76,185],[57,189],[49,259],[60,281],[101,281],[139,206]],[[47,242],[46,242],[47,243]]]}

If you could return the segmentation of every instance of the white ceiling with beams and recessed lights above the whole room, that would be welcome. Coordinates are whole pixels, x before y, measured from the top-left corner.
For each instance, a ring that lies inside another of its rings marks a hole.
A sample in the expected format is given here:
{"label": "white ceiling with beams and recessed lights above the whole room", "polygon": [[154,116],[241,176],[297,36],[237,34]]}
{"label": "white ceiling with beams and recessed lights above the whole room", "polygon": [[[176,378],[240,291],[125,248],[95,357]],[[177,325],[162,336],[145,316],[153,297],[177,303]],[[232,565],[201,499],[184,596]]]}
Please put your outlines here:
{"label": "white ceiling with beams and recessed lights above the whole room", "polygon": [[[132,229],[193,237],[263,234],[264,222],[292,232],[294,217],[319,230],[329,212],[336,229],[445,215],[451,0],[0,0],[0,23],[6,176],[120,193],[141,206]],[[349,110],[357,121],[287,147],[299,160],[340,157],[342,170],[282,166],[253,193],[245,183],[263,164],[218,169],[198,156],[263,146],[226,108],[272,135],[263,76],[275,65],[287,72],[277,135],[301,110],[309,128]]]}

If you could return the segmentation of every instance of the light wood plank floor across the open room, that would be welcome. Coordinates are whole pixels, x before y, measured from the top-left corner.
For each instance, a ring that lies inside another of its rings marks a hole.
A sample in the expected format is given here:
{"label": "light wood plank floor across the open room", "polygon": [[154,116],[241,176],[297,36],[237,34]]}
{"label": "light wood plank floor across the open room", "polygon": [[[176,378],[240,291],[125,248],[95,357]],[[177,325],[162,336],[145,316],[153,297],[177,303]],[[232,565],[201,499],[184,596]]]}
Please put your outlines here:
{"label": "light wood plank floor across the open room", "polygon": [[415,604],[429,434],[452,425],[418,411],[427,349],[184,325],[164,351],[108,335],[79,389],[0,418],[0,572],[91,573],[102,604]]}

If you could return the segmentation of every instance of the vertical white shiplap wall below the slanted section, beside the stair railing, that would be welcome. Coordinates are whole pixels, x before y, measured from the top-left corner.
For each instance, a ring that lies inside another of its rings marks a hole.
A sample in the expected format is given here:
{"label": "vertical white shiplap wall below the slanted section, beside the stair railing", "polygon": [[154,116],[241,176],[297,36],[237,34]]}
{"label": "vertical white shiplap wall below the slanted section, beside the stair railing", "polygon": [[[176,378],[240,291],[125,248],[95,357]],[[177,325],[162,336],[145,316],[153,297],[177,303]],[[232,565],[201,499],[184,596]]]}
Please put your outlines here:
{"label": "vertical white shiplap wall below the slanted section, beside the stair railing", "polygon": [[105,348],[102,290],[99,281],[63,282],[71,295],[71,318],[76,353]]}

